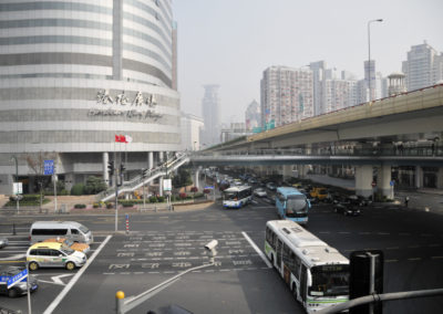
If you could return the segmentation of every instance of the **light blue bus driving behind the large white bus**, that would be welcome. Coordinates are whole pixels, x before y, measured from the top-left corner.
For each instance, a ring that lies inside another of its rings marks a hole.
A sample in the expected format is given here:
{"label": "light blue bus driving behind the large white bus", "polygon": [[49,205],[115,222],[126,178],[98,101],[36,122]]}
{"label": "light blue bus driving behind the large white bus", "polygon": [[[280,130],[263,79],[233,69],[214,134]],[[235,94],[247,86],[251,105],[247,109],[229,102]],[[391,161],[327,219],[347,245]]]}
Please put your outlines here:
{"label": "light blue bus driving behind the large white bus", "polygon": [[308,210],[311,208],[311,203],[296,188],[277,188],[276,207],[281,219],[292,220],[300,224],[308,223]]}

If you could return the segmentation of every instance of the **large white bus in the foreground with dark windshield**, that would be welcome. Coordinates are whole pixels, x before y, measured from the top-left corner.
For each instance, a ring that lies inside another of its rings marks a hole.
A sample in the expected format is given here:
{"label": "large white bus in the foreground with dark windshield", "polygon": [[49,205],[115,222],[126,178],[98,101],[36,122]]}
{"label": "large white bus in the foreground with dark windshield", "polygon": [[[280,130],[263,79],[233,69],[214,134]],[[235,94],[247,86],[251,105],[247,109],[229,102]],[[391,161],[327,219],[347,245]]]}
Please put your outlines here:
{"label": "large white bus in the foreground with dark windshield", "polygon": [[308,313],[349,300],[349,260],[298,223],[268,221],[265,252]]}

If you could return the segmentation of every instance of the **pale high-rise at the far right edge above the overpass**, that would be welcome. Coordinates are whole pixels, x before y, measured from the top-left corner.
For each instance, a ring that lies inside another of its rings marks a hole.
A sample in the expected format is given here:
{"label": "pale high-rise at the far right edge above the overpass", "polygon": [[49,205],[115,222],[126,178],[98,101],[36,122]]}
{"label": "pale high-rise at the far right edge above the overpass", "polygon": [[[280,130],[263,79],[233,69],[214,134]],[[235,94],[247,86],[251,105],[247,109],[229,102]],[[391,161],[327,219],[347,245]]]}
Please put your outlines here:
{"label": "pale high-rise at the far right edge above the overpass", "polygon": [[431,86],[443,77],[443,55],[426,42],[413,45],[402,70],[406,75],[408,91]]}

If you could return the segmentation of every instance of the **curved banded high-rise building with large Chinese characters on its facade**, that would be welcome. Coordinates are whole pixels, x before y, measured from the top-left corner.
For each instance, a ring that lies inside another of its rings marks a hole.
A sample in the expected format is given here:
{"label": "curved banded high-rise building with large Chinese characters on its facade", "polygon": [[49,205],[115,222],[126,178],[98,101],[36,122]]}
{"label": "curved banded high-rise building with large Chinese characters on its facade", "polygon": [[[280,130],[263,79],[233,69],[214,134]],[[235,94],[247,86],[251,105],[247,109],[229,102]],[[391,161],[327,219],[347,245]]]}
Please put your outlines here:
{"label": "curved banded high-rise building with large Chinese characters on its facade", "polygon": [[0,1],[0,193],[14,161],[32,192],[42,160],[70,188],[178,150],[174,41],[172,0]]}

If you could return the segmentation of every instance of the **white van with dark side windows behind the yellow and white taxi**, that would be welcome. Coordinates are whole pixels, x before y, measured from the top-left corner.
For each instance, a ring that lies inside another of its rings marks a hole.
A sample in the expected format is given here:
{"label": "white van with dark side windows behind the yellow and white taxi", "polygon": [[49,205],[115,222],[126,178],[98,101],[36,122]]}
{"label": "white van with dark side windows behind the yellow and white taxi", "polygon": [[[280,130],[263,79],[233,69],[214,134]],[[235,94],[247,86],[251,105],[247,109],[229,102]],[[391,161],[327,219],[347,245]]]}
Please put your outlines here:
{"label": "white van with dark side windows behind the yellow and white taxi", "polygon": [[75,221],[35,221],[29,231],[31,244],[58,237],[87,244],[94,241],[91,230]]}

